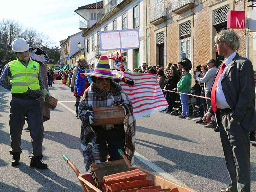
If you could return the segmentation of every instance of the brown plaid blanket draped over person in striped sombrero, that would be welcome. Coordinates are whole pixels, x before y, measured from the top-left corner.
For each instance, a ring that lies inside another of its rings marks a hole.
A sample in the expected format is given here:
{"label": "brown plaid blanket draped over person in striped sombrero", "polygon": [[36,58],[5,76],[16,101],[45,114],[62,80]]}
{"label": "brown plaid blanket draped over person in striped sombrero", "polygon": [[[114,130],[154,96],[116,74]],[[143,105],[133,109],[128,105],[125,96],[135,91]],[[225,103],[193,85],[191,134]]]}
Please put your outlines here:
{"label": "brown plaid blanket draped over person in striped sombrero", "polygon": [[126,111],[124,119],[125,154],[130,163],[133,164],[136,126],[132,102],[125,94],[121,85],[116,82],[111,81],[109,92],[101,92],[98,86],[92,82],[91,86],[85,90],[83,99],[78,108],[79,117],[82,121],[80,140],[87,171],[90,170],[92,163],[102,162],[99,145],[96,144],[97,133],[93,130],[92,125],[89,124],[89,115],[93,111],[93,108],[117,105],[123,106]]}

